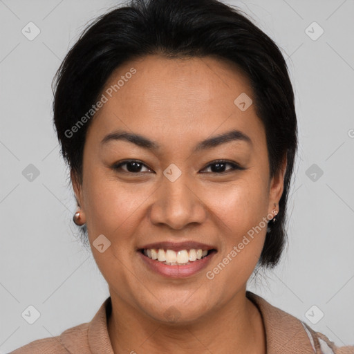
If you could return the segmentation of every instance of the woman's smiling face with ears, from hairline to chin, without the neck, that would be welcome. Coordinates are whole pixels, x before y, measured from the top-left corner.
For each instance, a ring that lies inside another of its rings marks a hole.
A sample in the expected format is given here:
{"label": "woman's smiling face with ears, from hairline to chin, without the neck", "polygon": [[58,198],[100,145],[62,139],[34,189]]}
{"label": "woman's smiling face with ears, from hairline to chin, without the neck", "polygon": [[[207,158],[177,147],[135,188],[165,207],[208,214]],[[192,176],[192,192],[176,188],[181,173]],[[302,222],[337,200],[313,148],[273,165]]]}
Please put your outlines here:
{"label": "woman's smiling face with ears, from hairline to chin, without the neck", "polygon": [[112,300],[189,322],[244,297],[285,172],[270,179],[247,77],[212,57],[151,55],[102,94],[73,187]]}

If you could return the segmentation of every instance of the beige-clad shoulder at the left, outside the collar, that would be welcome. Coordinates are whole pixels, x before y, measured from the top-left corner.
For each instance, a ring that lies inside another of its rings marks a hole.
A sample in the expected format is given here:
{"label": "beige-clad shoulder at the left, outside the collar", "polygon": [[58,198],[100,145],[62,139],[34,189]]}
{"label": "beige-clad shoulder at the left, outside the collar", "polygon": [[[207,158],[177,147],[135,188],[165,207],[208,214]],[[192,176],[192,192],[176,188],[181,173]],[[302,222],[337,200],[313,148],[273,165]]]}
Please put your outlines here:
{"label": "beige-clad shoulder at the left, outside the collar", "polygon": [[88,346],[88,323],[64,330],[61,335],[37,339],[9,354],[73,354],[84,353]]}

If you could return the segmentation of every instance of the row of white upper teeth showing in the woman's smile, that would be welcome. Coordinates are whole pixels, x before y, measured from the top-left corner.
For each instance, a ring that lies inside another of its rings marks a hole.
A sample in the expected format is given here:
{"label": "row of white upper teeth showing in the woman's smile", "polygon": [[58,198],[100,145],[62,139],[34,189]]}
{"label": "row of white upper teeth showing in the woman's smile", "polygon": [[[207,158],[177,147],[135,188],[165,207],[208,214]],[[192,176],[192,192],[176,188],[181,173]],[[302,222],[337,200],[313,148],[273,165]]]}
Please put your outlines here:
{"label": "row of white upper teeth showing in the woman's smile", "polygon": [[192,250],[181,250],[175,252],[174,250],[163,250],[162,248],[156,250],[154,248],[144,250],[145,256],[156,259],[160,262],[165,262],[169,265],[174,264],[188,264],[189,261],[196,261],[197,259],[202,259],[207,255],[207,250],[202,249],[192,249]]}

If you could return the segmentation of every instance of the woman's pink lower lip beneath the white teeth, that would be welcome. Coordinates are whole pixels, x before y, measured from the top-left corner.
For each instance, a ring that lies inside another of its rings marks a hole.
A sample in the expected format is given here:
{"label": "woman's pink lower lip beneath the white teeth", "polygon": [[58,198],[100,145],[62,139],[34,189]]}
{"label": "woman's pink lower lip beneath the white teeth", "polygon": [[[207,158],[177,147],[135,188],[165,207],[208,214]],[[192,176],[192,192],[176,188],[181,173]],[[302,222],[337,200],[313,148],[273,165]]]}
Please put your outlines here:
{"label": "woman's pink lower lip beneath the white teeth", "polygon": [[185,265],[167,265],[145,256],[145,254],[142,254],[140,251],[138,251],[138,254],[140,255],[142,261],[145,262],[145,264],[149,267],[149,269],[153,270],[153,272],[156,272],[164,277],[186,278],[192,277],[192,275],[206,268],[216,252],[212,251],[207,255],[207,257],[198,259],[197,261],[189,261],[190,263]]}

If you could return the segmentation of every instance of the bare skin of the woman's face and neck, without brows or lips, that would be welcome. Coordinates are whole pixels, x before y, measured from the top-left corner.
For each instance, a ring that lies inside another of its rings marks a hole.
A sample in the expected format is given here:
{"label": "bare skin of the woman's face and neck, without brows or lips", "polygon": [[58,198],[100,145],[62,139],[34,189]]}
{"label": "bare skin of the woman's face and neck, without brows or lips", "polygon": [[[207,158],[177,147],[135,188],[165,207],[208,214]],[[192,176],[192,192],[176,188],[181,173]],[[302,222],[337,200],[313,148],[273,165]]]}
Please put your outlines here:
{"label": "bare skin of the woman's face and neck, without brows or lips", "polygon": [[[265,130],[254,105],[241,111],[234,104],[241,93],[253,97],[248,78],[214,57],[151,55],[120,66],[102,93],[132,67],[136,74],[88,128],[82,184],[72,174],[93,256],[109,284],[113,351],[265,353],[261,315],[245,289],[266,227],[214,279],[205,276],[272,212],[283,192],[286,160],[270,179]],[[160,150],[124,140],[100,144],[117,129],[155,140]],[[252,144],[237,140],[192,152],[201,140],[232,129],[248,135]],[[112,168],[129,159],[144,164],[140,173],[129,172],[127,165]],[[217,159],[245,169],[225,165],[225,172],[215,172],[210,164]],[[163,174],[171,163],[182,171],[173,183]],[[92,246],[100,234],[111,241],[102,253]],[[170,279],[147,268],[136,251],[166,240],[207,243],[218,252],[206,270]],[[171,309],[178,311],[175,322],[165,315]]]}

